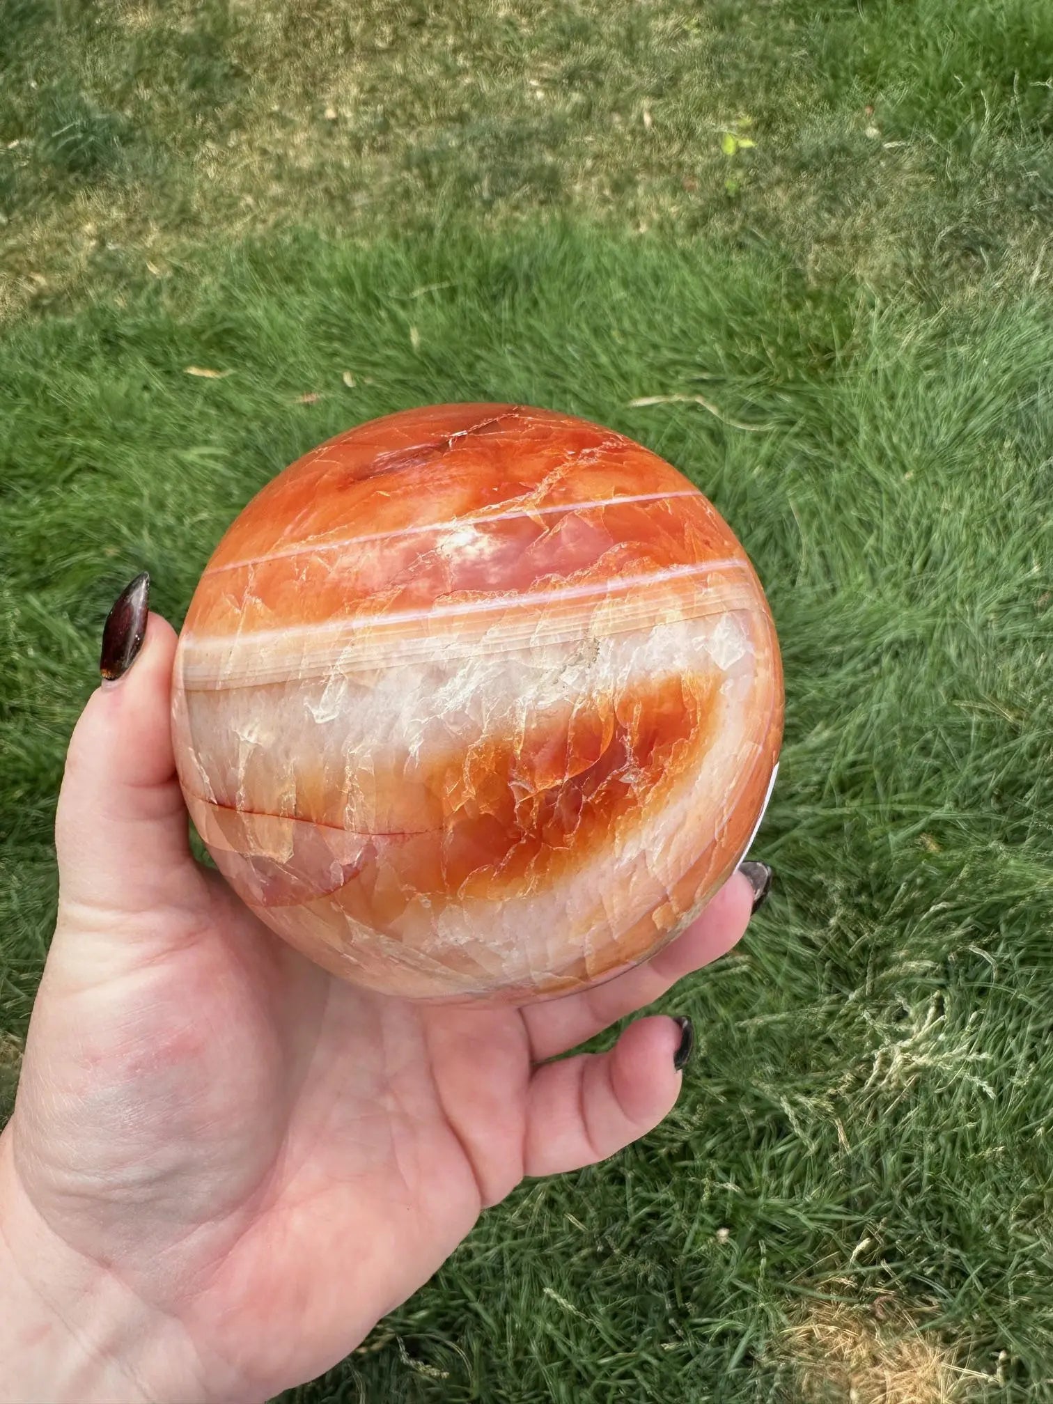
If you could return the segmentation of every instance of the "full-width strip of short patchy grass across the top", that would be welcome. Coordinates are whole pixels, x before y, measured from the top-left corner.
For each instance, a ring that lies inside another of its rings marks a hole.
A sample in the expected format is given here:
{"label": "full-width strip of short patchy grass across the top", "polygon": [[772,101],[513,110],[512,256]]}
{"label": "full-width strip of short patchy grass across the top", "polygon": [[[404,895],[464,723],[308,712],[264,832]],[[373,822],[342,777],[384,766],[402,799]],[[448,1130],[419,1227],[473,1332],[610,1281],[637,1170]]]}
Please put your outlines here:
{"label": "full-width strip of short patchy grass across the top", "polygon": [[449,208],[774,246],[939,305],[1040,278],[1053,216],[1042,0],[7,0],[0,65],[0,313]]}

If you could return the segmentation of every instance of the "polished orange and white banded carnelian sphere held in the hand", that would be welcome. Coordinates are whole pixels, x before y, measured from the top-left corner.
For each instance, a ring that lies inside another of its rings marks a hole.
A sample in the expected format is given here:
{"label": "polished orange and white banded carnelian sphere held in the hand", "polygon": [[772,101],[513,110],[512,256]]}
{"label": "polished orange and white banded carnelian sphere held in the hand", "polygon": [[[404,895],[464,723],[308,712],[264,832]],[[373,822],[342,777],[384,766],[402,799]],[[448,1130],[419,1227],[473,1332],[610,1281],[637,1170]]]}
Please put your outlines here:
{"label": "polished orange and white banded carnelian sphere held in the hand", "polygon": [[173,726],[239,896],[355,984],[526,1002],[680,932],[782,734],[771,614],[639,444],[510,404],[340,434],[253,498],[180,636]]}

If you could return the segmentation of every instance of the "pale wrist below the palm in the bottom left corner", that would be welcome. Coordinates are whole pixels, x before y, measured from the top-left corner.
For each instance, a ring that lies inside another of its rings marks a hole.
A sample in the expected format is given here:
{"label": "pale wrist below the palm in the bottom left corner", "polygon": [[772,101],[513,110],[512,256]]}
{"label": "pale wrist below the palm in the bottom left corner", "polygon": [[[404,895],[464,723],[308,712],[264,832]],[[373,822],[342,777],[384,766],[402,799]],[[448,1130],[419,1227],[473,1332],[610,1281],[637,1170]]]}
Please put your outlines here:
{"label": "pale wrist below the palm in the bottom left corner", "polygon": [[0,1136],[0,1404],[198,1404],[177,1323],[52,1231]]}

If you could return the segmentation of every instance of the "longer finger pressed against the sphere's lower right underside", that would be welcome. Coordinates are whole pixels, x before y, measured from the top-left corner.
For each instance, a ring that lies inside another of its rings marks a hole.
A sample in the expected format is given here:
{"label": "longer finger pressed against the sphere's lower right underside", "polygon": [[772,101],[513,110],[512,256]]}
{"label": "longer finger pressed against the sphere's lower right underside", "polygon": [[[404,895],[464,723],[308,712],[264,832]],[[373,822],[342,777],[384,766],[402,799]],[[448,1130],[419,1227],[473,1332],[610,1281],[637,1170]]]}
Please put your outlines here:
{"label": "longer finger pressed against the sphere's lower right underside", "polygon": [[644,965],[580,994],[524,1008],[534,1060],[539,1063],[577,1047],[626,1014],[660,1000],[685,974],[724,955],[746,931],[753,901],[753,886],[744,873],[736,872],[702,915]]}

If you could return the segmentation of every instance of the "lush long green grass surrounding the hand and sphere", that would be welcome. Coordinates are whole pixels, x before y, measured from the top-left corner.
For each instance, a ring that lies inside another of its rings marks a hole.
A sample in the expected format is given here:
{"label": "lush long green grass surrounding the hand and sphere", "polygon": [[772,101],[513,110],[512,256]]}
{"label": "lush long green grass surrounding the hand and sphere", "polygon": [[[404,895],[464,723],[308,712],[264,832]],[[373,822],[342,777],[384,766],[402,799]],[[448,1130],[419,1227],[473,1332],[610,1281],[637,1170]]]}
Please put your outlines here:
{"label": "lush long green grass surrounding the hand and sphere", "polygon": [[[1039,300],[925,320],[816,296],[760,256],[570,227],[300,236],[8,334],[15,1028],[110,598],[146,567],[178,619],[239,504],[341,425],[472,396],[598,417],[691,473],[768,584],[789,712],[761,851],[781,883],[746,951],[673,1000],[703,1043],[681,1106],[615,1164],[491,1214],[386,1328],[403,1345],[340,1376],[366,1397],[702,1398],[722,1380],[712,1397],[753,1398],[813,1293],[892,1294],[959,1363],[1005,1351],[1021,1397],[1047,1397],[1052,358]],[[629,409],[699,388],[767,427]]]}

